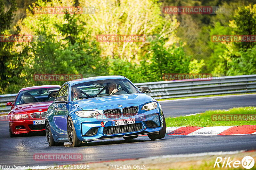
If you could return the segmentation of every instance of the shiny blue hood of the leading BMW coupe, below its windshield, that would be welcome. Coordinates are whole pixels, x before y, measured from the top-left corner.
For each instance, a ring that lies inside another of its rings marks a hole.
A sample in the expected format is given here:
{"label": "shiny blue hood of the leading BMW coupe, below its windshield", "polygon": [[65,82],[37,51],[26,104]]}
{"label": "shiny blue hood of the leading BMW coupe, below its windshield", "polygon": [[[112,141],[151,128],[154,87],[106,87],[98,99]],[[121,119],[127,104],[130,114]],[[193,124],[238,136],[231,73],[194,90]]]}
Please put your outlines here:
{"label": "shiny blue hood of the leading BMW coupe, below its windshield", "polygon": [[152,97],[144,93],[132,93],[124,95],[95,97],[88,99],[81,99],[72,101],[71,104],[82,108],[83,110],[92,110],[106,106],[112,106],[117,104],[129,104],[129,103],[149,103],[152,102]]}

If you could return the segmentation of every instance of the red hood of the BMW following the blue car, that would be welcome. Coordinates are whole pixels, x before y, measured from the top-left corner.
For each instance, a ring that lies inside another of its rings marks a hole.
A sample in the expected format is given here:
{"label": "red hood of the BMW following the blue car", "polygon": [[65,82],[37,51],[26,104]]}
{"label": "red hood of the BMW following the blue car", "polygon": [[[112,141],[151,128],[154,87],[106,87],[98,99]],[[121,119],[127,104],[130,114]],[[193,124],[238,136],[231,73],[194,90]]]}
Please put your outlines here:
{"label": "red hood of the BMW following the blue car", "polygon": [[[27,104],[20,104],[17,106],[14,106],[12,111],[14,113],[33,113],[33,112],[42,112],[47,111],[48,107],[52,104],[52,101],[50,102],[38,102],[38,103],[27,103]],[[42,111],[38,111],[39,109],[42,109]]]}

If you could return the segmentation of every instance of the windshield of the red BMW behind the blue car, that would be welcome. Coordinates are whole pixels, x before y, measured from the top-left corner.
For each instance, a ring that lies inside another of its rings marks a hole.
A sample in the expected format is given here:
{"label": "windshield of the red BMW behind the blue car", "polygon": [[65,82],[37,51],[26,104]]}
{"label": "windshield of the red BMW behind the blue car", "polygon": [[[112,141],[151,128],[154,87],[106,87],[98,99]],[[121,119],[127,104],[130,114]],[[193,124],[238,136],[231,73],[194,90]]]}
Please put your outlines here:
{"label": "windshield of the red BMW behind the blue car", "polygon": [[[24,90],[21,91],[14,103],[14,105],[26,104],[26,103],[36,103],[36,102],[46,102],[53,101],[52,98],[56,96],[52,92],[50,96],[48,95],[47,90],[53,90],[59,88],[42,88],[42,89],[32,89],[32,90]],[[56,92],[55,92],[56,93]]]}

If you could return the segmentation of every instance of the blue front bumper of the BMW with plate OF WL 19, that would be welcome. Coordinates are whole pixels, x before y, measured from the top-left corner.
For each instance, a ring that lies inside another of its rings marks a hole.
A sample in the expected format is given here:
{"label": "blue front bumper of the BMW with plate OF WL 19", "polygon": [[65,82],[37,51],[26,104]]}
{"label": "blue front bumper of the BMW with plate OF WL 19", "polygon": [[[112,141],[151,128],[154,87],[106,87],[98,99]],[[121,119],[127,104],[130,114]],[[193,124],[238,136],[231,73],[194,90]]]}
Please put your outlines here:
{"label": "blue front bumper of the BMW with plate OF WL 19", "polygon": [[[72,115],[76,129],[77,138],[81,141],[88,142],[92,140],[101,140],[108,138],[121,138],[128,136],[144,135],[148,133],[159,133],[163,128],[163,112],[159,103],[153,110],[141,110],[145,103],[124,104],[122,108],[138,106],[138,113],[134,116],[118,118],[107,118],[103,110],[116,109],[118,105],[94,109],[100,113],[100,116],[93,118],[78,117]],[[122,110],[122,109],[121,109]],[[135,119],[132,124],[114,125],[113,121],[124,119]]]}

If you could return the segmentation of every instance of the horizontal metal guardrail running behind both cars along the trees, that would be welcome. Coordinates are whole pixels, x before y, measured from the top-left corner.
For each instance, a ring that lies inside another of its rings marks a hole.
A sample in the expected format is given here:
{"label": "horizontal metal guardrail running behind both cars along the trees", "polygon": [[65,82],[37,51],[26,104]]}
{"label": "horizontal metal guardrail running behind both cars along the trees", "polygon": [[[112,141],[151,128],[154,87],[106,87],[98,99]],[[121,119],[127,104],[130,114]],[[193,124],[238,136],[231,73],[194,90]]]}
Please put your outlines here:
{"label": "horizontal metal guardrail running behind both cars along the trees", "polygon": [[[256,92],[256,74],[225,77],[212,77],[208,81],[178,80],[135,83],[136,86],[148,86],[147,95],[154,99],[176,97],[205,96]],[[17,94],[0,95],[0,114],[8,113],[6,102],[14,102]]]}

